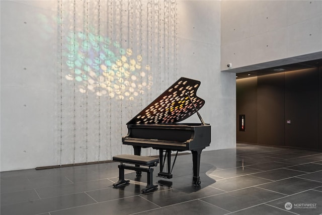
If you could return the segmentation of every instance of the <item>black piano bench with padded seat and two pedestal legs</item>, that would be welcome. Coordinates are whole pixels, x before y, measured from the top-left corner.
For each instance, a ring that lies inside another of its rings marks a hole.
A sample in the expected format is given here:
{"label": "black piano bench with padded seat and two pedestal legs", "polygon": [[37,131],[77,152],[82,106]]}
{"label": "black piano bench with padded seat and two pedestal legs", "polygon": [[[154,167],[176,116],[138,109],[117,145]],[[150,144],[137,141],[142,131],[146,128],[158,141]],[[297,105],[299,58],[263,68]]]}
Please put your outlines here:
{"label": "black piano bench with padded seat and two pedestal legs", "polygon": [[[153,168],[156,167],[159,163],[158,158],[144,157],[138,155],[116,155],[113,156],[113,161],[121,162],[119,165],[119,180],[118,182],[113,184],[113,187],[121,187],[128,185],[130,183],[129,180],[124,179],[124,170],[134,170],[137,172],[146,172],[147,173],[147,185],[144,189],[142,189],[142,193],[152,192],[157,189],[157,185],[153,185]],[[135,166],[128,166],[127,164],[134,164]],[[145,166],[145,167],[140,167]]]}

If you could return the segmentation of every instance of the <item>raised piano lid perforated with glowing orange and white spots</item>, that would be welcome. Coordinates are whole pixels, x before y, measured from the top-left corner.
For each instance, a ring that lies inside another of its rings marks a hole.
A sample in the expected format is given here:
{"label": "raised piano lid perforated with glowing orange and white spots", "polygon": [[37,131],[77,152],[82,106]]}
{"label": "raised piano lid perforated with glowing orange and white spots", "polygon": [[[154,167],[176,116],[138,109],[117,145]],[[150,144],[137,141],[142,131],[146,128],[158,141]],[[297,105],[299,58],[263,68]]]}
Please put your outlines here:
{"label": "raised piano lid perforated with glowing orange and white spots", "polygon": [[190,117],[205,104],[196,95],[199,86],[200,81],[180,78],[127,124],[177,123]]}

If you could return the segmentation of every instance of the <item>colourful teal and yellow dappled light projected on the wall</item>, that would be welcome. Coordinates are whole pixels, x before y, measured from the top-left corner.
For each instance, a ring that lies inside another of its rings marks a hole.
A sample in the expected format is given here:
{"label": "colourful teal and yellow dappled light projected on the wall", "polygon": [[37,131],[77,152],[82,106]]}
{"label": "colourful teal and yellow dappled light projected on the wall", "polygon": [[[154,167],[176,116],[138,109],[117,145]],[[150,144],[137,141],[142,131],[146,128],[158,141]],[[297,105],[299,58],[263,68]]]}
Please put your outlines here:
{"label": "colourful teal and yellow dappled light projected on the wall", "polygon": [[131,48],[93,33],[70,32],[66,40],[65,79],[74,81],[79,92],[134,100],[151,88],[150,65]]}

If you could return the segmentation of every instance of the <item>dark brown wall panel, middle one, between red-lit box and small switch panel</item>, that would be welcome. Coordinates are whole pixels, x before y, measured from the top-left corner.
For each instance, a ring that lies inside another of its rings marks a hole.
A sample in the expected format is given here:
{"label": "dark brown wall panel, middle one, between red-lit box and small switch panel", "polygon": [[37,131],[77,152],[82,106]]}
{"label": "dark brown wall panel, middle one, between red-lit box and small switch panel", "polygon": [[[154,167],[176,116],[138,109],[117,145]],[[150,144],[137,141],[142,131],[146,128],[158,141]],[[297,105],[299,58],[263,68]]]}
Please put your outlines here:
{"label": "dark brown wall panel, middle one, between red-lit box and small switch panel", "polygon": [[258,77],[258,143],[284,146],[284,73]]}

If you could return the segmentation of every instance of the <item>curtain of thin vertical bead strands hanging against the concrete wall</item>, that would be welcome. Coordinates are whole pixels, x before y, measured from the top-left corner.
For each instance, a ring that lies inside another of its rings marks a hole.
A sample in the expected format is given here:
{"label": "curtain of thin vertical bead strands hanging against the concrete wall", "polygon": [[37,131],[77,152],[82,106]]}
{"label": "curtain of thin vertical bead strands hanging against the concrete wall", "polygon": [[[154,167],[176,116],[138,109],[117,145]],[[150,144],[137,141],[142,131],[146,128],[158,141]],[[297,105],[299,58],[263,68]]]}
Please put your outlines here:
{"label": "curtain of thin vertical bead strands hanging against the concrete wall", "polygon": [[178,79],[177,2],[60,0],[57,8],[57,162],[133,153],[122,146],[126,123]]}

